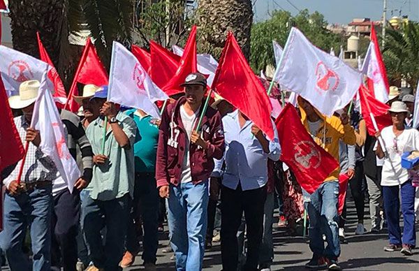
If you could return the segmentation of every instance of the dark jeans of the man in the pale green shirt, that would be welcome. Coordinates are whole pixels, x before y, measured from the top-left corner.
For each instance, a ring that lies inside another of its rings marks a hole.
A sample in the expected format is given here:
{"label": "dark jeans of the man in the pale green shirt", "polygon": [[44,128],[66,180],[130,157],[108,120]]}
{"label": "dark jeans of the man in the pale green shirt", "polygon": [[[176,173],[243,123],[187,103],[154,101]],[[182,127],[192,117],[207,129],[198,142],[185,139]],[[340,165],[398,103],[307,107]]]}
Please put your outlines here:
{"label": "dark jeans of the man in the pale green shirt", "polygon": [[[124,256],[131,197],[126,193],[113,200],[88,198],[84,206],[84,234],[89,245],[91,261],[96,268],[104,268],[106,271],[122,270],[119,262]],[[104,246],[101,235],[103,226],[106,227]]]}

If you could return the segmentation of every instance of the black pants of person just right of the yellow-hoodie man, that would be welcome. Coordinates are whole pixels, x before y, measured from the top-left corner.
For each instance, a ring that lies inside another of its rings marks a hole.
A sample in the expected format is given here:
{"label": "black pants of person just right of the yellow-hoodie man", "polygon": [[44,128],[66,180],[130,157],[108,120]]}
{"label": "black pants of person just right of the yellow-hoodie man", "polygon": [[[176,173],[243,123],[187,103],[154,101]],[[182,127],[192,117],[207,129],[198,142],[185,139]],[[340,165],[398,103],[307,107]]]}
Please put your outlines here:
{"label": "black pants of person just right of the yellow-hoodie man", "polygon": [[[355,203],[356,215],[358,221],[364,221],[364,193],[362,191],[362,182],[364,182],[364,166],[362,162],[357,162],[355,165],[355,175],[349,180],[349,187],[351,195]],[[339,219],[339,228],[344,228],[346,222],[346,198],[344,210],[342,211],[341,218]]]}

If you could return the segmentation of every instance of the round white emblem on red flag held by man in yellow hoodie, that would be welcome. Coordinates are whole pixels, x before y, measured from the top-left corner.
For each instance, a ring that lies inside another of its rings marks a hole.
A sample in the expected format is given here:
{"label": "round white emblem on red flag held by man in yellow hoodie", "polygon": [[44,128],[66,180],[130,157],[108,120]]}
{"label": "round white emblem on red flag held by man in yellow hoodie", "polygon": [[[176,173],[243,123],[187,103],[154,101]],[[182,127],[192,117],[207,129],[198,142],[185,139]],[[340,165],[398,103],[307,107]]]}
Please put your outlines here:
{"label": "round white emblem on red flag held by man in yellow hoodie", "polygon": [[[309,149],[310,152],[307,152],[307,149]],[[294,147],[294,152],[295,161],[298,164],[300,164],[303,168],[316,169],[321,164],[321,153],[318,152],[318,149],[316,148],[313,142],[306,140],[298,142],[297,145],[295,145]]]}

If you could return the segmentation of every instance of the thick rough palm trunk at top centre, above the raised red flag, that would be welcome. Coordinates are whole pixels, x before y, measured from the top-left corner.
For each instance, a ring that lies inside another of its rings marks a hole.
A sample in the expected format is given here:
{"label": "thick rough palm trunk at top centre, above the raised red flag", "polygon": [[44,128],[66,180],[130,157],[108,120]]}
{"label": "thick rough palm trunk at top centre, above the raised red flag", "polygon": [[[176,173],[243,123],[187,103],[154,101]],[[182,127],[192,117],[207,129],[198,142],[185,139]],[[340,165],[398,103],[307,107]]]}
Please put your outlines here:
{"label": "thick rough palm trunk at top centre, above the raised red flag", "polygon": [[204,51],[219,57],[227,32],[232,31],[244,57],[249,59],[253,23],[251,0],[200,0],[198,21]]}

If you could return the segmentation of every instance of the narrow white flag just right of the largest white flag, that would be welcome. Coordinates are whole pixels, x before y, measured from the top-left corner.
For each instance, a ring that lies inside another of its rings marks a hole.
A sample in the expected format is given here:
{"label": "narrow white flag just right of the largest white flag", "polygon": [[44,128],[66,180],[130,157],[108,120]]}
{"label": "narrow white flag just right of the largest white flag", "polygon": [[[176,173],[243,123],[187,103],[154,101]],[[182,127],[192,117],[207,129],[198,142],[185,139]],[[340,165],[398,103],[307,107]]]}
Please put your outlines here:
{"label": "narrow white flag just right of the largest white flag", "polygon": [[[367,54],[365,55],[364,64],[362,64],[362,73],[368,76],[369,90],[374,89],[374,96],[381,103],[387,103],[388,101],[388,87],[386,87],[383,72],[381,71],[378,55],[380,54],[379,49],[377,52],[378,45],[375,45],[374,41],[371,41],[368,46]],[[372,89],[373,88],[373,89]]]}

